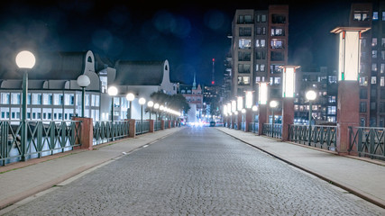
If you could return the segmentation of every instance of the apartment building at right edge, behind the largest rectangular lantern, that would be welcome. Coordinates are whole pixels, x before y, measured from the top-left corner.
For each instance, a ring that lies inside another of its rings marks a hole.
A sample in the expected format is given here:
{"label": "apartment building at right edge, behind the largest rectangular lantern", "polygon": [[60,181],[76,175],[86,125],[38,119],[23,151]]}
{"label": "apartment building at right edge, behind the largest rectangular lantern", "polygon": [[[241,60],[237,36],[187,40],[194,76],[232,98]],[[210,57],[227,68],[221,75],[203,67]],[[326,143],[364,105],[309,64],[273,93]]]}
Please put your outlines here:
{"label": "apartment building at right edge, behind the largest rectangular lantern", "polygon": [[360,83],[361,126],[385,126],[385,2],[352,4],[350,26],[362,33]]}

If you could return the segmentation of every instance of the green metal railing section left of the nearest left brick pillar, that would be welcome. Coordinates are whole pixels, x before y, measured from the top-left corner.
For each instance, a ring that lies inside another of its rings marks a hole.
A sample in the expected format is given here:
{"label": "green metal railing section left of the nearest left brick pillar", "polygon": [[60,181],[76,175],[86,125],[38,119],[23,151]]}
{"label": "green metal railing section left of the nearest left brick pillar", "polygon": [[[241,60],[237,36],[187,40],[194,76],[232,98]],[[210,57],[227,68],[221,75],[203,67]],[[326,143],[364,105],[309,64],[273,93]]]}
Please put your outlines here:
{"label": "green metal railing section left of the nearest left brick pillar", "polygon": [[44,157],[80,146],[81,121],[25,121],[27,139],[22,145],[23,121],[0,121],[0,163]]}

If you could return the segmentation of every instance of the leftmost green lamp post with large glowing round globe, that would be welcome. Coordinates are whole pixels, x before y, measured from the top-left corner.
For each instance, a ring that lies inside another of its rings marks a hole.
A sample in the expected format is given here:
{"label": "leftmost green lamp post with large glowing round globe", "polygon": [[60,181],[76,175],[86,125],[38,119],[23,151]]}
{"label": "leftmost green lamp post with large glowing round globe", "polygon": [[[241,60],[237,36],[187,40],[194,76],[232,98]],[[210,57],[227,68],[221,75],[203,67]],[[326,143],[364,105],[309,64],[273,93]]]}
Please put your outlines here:
{"label": "leftmost green lamp post with large glowing round globe", "polygon": [[28,70],[31,69],[36,62],[36,58],[30,51],[21,51],[16,58],[17,67],[23,69],[23,105],[22,105],[22,157],[25,161],[25,152],[27,146],[27,96],[28,96]]}

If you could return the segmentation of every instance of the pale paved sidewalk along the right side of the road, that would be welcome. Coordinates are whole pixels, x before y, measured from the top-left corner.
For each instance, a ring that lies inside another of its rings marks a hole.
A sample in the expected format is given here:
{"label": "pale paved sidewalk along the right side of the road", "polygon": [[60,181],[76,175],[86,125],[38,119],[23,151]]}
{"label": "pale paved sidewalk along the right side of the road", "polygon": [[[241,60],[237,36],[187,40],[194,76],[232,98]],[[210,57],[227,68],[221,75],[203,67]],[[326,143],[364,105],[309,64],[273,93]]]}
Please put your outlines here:
{"label": "pale paved sidewalk along the right side of the road", "polygon": [[338,156],[332,151],[282,142],[242,130],[216,129],[385,208],[385,162]]}

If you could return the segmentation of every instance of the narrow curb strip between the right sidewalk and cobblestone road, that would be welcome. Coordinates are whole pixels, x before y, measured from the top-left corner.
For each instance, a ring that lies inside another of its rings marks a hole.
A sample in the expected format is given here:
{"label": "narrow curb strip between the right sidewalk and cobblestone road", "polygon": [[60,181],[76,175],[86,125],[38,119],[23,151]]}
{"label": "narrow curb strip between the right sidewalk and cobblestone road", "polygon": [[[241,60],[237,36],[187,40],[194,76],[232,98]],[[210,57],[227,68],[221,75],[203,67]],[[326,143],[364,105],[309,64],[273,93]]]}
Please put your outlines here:
{"label": "narrow curb strip between the right sidewalk and cobblestone road", "polygon": [[[217,129],[217,130],[219,130],[219,129]],[[331,179],[331,178],[328,178],[328,177],[326,177],[325,175],[320,175],[320,174],[316,173],[315,171],[312,171],[312,170],[307,169],[307,168],[304,167],[304,166],[300,166],[300,165],[295,164],[295,163],[293,163],[293,162],[291,162],[291,161],[289,161],[289,160],[287,160],[287,159],[285,159],[285,158],[283,158],[283,157],[277,156],[277,155],[275,155],[275,154],[273,154],[273,153],[271,153],[271,152],[269,152],[269,151],[267,151],[267,150],[265,150],[265,149],[263,149],[263,148],[254,146],[254,145],[252,145],[251,143],[249,143],[249,142],[247,142],[247,141],[244,141],[243,139],[237,138],[237,137],[235,137],[234,135],[232,135],[232,134],[230,134],[230,133],[227,133],[227,132],[224,131],[224,130],[220,130],[220,131],[222,131],[223,133],[225,133],[225,134],[227,134],[227,135],[233,137],[234,139],[237,139],[237,140],[242,141],[243,143],[245,143],[245,144],[251,146],[252,148],[257,148],[257,149],[261,150],[262,152],[264,152],[264,153],[270,155],[271,157],[275,157],[275,158],[277,158],[277,159],[280,159],[281,161],[283,161],[283,162],[289,164],[290,166],[297,167],[298,169],[303,170],[303,171],[305,171],[305,172],[307,172],[307,173],[309,173],[309,174],[311,174],[311,175],[315,175],[316,177],[318,177],[318,178],[320,178],[320,179],[326,181],[326,182],[329,183],[329,184],[333,184],[333,185],[335,185],[335,186],[338,186],[338,187],[344,189],[345,191],[347,191],[347,192],[349,192],[349,193],[353,193],[354,195],[356,195],[356,196],[362,198],[363,200],[366,200],[366,201],[368,201],[368,202],[371,202],[371,203],[373,203],[373,204],[375,204],[375,205],[377,205],[377,206],[379,206],[379,207],[385,209],[385,202],[382,201],[382,200],[380,200],[380,199],[378,199],[378,198],[375,197],[375,196],[372,196],[372,195],[369,194],[369,193],[365,193],[365,192],[362,192],[361,190],[357,190],[357,189],[352,188],[352,187],[349,187],[349,186],[347,186],[347,185],[345,185],[345,184],[339,183],[338,181],[335,181],[335,180],[333,180],[333,179]],[[266,137],[266,138],[268,138],[268,137]],[[270,139],[270,138],[268,138],[268,139]],[[277,139],[277,141],[279,141],[279,140]],[[291,144],[291,143],[290,143],[290,144]],[[329,152],[327,152],[327,153],[329,153]],[[333,154],[333,153],[330,153],[330,154]],[[366,161],[365,161],[365,162],[366,162]]]}

